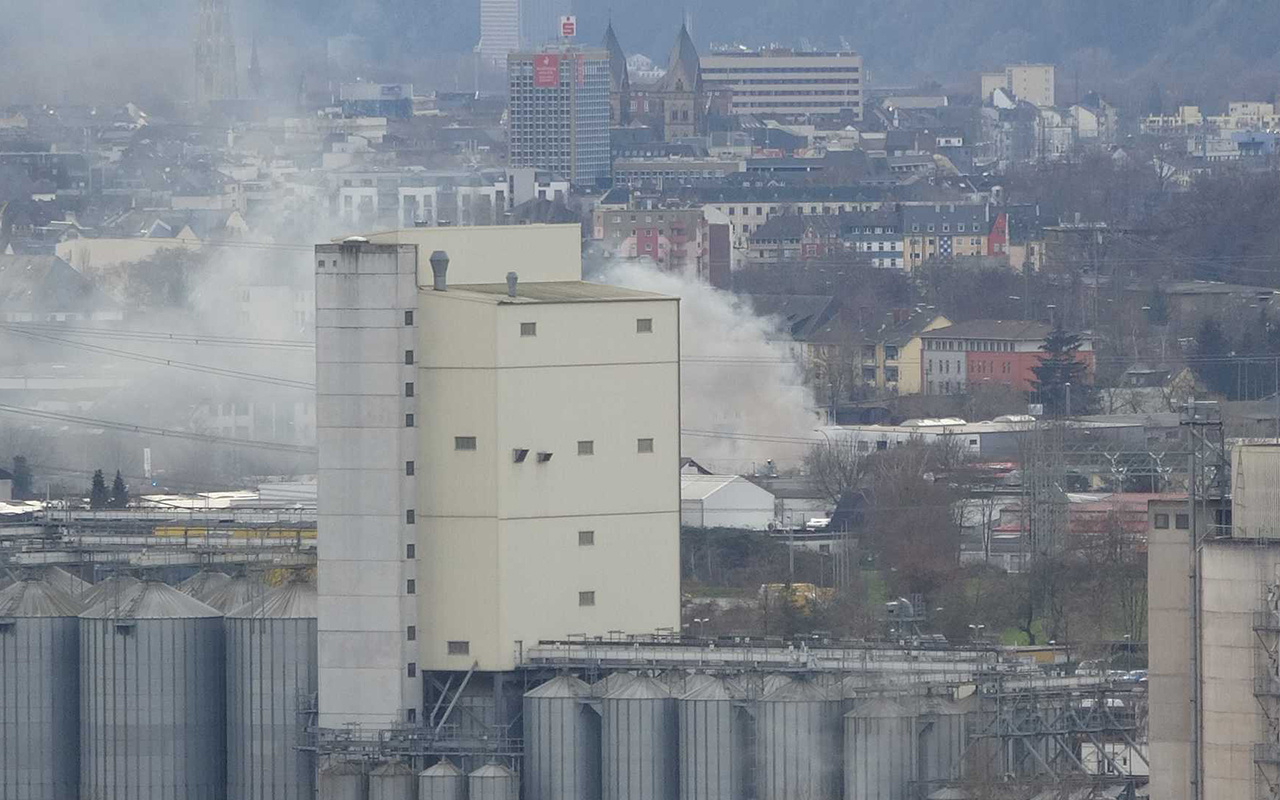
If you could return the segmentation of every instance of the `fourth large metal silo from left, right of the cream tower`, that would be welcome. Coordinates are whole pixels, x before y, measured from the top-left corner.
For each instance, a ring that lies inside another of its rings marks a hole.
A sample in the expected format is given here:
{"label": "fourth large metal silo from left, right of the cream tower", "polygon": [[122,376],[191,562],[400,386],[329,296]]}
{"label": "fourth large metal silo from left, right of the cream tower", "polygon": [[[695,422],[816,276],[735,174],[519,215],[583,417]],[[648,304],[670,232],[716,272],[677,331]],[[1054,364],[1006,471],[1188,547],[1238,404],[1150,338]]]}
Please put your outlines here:
{"label": "fourth large metal silo from left, right of the cream tower", "polygon": [[756,795],[760,800],[838,800],[844,714],[838,698],[791,680],[756,704]]}

